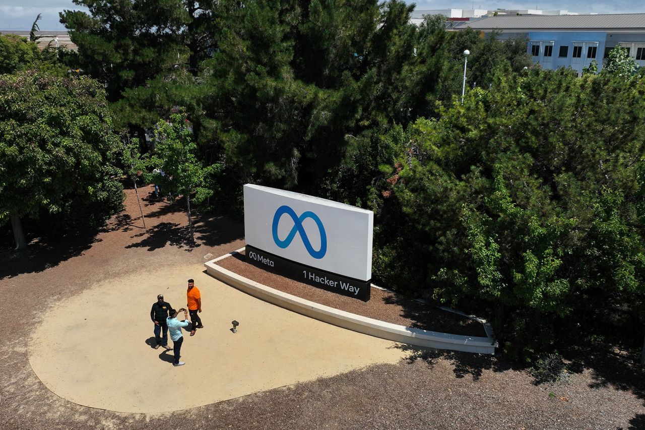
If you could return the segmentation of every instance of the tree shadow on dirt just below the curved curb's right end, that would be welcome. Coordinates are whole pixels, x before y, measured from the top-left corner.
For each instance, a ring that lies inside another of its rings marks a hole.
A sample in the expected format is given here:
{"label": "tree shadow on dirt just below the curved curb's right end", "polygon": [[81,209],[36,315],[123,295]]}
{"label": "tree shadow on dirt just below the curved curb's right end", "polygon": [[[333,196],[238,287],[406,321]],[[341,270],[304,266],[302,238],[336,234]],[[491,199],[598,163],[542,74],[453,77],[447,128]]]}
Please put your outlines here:
{"label": "tree shadow on dirt just below the curved curb's right end", "polygon": [[434,367],[438,360],[448,360],[453,365],[455,378],[464,378],[468,375],[473,381],[478,381],[484,371],[505,372],[521,370],[510,362],[490,354],[461,353],[459,351],[443,351],[441,349],[422,348],[413,345],[397,345],[398,349],[405,351],[408,356],[406,362],[412,364],[417,361]]}

